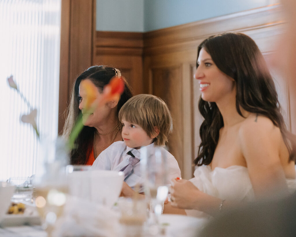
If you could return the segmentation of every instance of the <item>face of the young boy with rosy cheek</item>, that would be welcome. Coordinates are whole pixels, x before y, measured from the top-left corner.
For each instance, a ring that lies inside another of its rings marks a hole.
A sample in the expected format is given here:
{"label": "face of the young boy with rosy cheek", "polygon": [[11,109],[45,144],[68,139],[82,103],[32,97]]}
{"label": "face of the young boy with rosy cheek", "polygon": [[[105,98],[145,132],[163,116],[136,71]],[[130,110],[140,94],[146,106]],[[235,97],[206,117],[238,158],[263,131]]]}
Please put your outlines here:
{"label": "face of the young boy with rosy cheek", "polygon": [[147,146],[153,142],[154,137],[149,137],[140,125],[130,123],[124,119],[121,120],[121,123],[121,136],[128,147],[139,149],[141,146]]}

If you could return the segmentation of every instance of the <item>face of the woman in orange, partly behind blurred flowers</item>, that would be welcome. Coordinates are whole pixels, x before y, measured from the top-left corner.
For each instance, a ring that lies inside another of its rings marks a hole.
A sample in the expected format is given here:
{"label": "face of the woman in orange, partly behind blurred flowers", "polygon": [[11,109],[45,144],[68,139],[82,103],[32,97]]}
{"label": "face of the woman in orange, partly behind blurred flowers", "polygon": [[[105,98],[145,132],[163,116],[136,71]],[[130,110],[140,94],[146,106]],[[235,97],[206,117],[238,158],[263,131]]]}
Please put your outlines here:
{"label": "face of the woman in orange, partly behind blurred flowers", "polygon": [[[99,101],[102,100],[103,95],[99,92],[99,89],[91,82],[89,79],[85,79],[85,81],[88,81],[88,83],[91,83],[92,86],[96,88],[94,91],[94,104],[99,104]],[[93,113],[89,114],[86,113],[86,108],[89,108],[91,105],[87,105],[88,98],[88,92],[85,87],[81,86],[81,83],[79,85],[79,109],[81,110],[83,114],[83,125],[95,127],[99,126],[105,120],[107,120],[108,115],[111,112],[111,109],[106,105],[98,106],[95,108]]]}

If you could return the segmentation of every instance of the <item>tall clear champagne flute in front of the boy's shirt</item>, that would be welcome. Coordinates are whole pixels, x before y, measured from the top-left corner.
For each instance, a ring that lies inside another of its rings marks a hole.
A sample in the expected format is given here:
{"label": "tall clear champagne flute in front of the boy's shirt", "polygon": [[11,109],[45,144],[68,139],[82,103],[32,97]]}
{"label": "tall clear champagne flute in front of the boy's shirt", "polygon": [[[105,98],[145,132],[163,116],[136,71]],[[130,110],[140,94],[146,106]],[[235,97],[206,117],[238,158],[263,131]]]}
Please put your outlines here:
{"label": "tall clear champagne flute in front of the boy's shirt", "polygon": [[167,151],[158,146],[141,149],[141,169],[145,174],[144,192],[149,200],[150,226],[156,226],[154,232],[158,232],[158,217],[163,212],[164,201],[168,196]]}

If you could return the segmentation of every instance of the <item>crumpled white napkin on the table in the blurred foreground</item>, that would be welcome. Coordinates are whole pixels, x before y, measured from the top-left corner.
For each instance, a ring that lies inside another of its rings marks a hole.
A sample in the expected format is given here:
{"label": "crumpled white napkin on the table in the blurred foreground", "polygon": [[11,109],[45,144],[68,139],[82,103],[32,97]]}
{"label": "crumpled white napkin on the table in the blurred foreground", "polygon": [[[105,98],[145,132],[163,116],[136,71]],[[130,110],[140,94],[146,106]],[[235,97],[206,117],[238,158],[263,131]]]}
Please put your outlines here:
{"label": "crumpled white napkin on the table in the blurred foreground", "polygon": [[118,236],[119,217],[109,207],[67,196],[64,214],[55,223],[53,236]]}

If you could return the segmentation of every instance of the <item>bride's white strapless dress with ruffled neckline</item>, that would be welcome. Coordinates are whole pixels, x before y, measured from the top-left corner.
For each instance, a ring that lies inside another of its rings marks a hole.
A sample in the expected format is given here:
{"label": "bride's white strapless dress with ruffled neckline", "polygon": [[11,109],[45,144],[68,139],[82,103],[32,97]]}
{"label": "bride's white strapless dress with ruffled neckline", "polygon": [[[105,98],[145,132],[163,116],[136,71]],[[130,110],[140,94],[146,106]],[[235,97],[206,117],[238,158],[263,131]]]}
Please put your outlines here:
{"label": "bride's white strapless dress with ruffled neckline", "polygon": [[[247,167],[229,166],[228,168],[198,166],[194,178],[190,179],[199,190],[211,196],[235,201],[254,200],[254,191]],[[291,192],[296,190],[296,180],[287,179]],[[208,219],[210,216],[197,210],[186,210],[187,215]]]}

